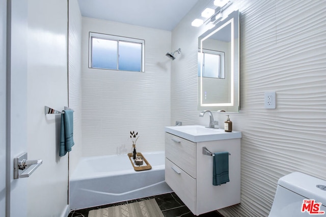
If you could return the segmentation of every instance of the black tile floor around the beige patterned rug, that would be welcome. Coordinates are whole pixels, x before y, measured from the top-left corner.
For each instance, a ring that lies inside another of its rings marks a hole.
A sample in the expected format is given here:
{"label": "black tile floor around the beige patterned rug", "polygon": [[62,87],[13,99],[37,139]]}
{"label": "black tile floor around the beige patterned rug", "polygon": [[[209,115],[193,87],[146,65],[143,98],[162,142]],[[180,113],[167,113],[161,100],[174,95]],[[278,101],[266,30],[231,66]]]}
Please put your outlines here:
{"label": "black tile floor around the beige patterned rug", "polygon": [[[141,200],[147,200],[155,198],[159,208],[165,217],[193,217],[194,215],[180,200],[180,198],[174,193],[162,194],[153,197],[140,198],[136,200],[129,200],[120,203],[107,204],[99,207],[92,207],[87,209],[73,210],[69,213],[68,217],[88,217],[88,212],[92,209],[100,209],[104,207],[117,206],[126,203],[133,203]],[[200,217],[223,217],[218,211],[212,211],[205,214],[199,215]]]}

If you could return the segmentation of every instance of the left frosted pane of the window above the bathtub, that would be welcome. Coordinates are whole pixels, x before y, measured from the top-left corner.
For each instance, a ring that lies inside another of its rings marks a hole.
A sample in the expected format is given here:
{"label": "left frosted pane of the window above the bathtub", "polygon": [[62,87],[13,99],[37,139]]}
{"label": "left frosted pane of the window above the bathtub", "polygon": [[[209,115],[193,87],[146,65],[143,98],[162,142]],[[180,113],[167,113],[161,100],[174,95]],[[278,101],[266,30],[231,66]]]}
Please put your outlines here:
{"label": "left frosted pane of the window above the bathtub", "polygon": [[92,38],[92,68],[117,69],[118,42]]}

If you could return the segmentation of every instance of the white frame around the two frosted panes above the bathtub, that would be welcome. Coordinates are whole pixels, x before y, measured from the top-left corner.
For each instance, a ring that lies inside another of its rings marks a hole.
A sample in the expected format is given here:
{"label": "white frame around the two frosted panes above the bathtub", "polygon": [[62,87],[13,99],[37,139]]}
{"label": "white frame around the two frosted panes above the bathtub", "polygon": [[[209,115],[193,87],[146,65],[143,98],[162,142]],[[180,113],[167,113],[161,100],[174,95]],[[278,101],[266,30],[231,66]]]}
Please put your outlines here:
{"label": "white frame around the two frosted panes above the bathtub", "polygon": [[[121,42],[128,42],[128,43],[138,43],[142,44],[142,54],[141,54],[141,71],[127,71],[127,70],[119,70],[119,49],[117,50],[118,58],[117,58],[117,69],[106,69],[106,68],[95,68],[92,67],[92,39],[104,39],[104,40],[111,40],[117,41],[119,47],[119,41]],[[135,39],[123,36],[115,36],[115,35],[108,35],[103,33],[94,33],[89,32],[89,59],[88,59],[88,68],[90,69],[104,69],[104,70],[114,70],[114,71],[125,71],[125,72],[145,72],[145,40],[143,39]]]}

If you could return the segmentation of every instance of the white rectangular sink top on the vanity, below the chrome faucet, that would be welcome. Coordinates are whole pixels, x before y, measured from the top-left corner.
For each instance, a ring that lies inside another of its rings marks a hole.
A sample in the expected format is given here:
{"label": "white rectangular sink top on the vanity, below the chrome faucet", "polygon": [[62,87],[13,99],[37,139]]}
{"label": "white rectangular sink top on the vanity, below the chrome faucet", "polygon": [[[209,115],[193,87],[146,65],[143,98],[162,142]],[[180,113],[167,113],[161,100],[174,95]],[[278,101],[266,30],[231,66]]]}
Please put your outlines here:
{"label": "white rectangular sink top on the vanity, below the chrome faucet", "polygon": [[224,129],[210,129],[201,125],[165,127],[165,132],[192,142],[241,138],[241,132],[227,133]]}

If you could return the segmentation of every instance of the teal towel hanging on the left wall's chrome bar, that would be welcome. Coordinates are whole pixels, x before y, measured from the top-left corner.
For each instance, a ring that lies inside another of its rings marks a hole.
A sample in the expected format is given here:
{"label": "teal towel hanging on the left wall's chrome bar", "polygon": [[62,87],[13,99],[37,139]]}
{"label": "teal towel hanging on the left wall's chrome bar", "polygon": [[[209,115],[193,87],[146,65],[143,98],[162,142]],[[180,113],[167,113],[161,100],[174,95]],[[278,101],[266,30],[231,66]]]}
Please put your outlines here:
{"label": "teal towel hanging on the left wall's chrome bar", "polygon": [[61,129],[60,129],[60,150],[59,156],[65,156],[67,151],[71,151],[73,142],[73,111],[64,110],[61,114]]}

